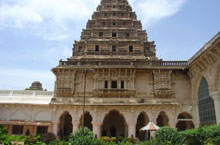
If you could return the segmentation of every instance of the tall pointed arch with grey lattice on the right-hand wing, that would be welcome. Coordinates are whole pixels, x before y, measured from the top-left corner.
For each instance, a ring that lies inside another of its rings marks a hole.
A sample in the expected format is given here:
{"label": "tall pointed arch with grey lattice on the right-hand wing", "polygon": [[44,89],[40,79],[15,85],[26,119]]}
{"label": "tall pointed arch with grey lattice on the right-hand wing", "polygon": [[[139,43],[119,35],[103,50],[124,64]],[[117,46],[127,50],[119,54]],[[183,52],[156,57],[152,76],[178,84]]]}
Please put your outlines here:
{"label": "tall pointed arch with grey lattice on the right-hand wing", "polygon": [[203,77],[198,91],[199,118],[201,125],[216,124],[215,105],[209,94],[209,85]]}

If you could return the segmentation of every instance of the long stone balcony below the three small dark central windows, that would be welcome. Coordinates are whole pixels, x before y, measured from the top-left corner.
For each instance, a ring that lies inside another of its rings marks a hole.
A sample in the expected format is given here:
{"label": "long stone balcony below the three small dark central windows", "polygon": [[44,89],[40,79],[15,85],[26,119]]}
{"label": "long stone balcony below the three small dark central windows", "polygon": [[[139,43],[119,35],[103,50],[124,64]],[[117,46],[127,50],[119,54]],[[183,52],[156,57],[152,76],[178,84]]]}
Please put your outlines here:
{"label": "long stone balcony below the three small dark central windows", "polygon": [[94,97],[98,98],[130,98],[135,95],[135,90],[131,89],[95,89]]}

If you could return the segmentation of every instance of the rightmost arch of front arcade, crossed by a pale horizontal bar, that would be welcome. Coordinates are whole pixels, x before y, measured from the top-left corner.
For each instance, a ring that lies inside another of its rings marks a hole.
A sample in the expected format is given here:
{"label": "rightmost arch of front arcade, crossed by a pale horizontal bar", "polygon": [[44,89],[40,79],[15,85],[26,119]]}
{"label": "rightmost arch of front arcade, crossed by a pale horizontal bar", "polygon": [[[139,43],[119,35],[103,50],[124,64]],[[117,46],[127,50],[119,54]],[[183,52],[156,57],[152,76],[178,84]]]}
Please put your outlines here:
{"label": "rightmost arch of front arcade, crossed by a pale horizontal bar", "polygon": [[178,129],[178,131],[195,128],[192,121],[192,116],[188,113],[179,114],[177,120],[178,123],[176,125],[176,128]]}

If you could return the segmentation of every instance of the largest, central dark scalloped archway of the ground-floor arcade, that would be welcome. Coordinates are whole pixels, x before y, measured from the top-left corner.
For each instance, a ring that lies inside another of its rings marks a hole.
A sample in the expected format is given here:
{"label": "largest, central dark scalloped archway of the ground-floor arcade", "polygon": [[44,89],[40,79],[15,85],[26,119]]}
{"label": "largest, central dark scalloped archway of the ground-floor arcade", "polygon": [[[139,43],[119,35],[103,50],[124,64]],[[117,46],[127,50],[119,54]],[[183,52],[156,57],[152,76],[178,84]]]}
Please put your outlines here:
{"label": "largest, central dark scalloped archway of the ground-floor arcade", "polygon": [[102,124],[102,136],[127,136],[127,124],[118,111],[112,110],[110,111],[104,118]]}

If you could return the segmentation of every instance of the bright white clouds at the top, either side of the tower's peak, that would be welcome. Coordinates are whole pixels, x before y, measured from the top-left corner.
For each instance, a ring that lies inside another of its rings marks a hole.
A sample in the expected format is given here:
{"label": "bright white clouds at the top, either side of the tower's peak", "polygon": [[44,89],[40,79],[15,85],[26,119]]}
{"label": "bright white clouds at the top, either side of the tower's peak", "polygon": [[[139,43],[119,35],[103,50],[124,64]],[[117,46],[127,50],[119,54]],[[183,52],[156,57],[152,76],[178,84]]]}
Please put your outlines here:
{"label": "bright white clouds at the top, either side of the tower's peak", "polygon": [[[185,1],[129,0],[146,26],[177,13]],[[72,36],[76,26],[91,18],[99,3],[100,0],[0,1],[0,29],[25,28],[45,40],[64,40]]]}

